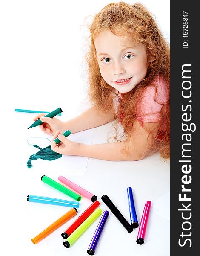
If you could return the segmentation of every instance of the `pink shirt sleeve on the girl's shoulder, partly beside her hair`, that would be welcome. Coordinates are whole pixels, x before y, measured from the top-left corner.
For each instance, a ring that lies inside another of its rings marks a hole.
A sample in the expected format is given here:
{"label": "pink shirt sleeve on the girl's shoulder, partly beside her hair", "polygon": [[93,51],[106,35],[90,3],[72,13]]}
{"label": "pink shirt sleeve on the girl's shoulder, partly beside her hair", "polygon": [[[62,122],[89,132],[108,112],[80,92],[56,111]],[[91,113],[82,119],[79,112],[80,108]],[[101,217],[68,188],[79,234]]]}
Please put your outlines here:
{"label": "pink shirt sleeve on the girl's shoulder, partly beside her hair", "polygon": [[149,86],[144,90],[143,95],[137,103],[137,120],[141,126],[143,122],[159,122],[161,108],[166,104],[169,93],[163,79],[157,79],[157,92],[154,86]]}

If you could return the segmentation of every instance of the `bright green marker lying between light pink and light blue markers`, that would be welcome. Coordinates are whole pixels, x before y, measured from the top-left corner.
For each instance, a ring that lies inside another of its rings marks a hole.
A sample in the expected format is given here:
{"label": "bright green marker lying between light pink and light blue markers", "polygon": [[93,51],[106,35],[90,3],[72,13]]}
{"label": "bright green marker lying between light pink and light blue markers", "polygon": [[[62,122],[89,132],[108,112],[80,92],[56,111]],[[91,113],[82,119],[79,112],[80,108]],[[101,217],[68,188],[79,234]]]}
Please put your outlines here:
{"label": "bright green marker lying between light pink and light blue markers", "polygon": [[81,196],[77,195],[70,189],[67,189],[65,186],[61,185],[60,183],[57,183],[55,180],[52,180],[51,178],[47,177],[46,175],[43,175],[41,177],[41,180],[48,184],[49,186],[52,186],[54,189],[59,190],[60,192],[63,192],[64,194],[70,196],[71,198],[74,198],[76,201],[80,201]]}

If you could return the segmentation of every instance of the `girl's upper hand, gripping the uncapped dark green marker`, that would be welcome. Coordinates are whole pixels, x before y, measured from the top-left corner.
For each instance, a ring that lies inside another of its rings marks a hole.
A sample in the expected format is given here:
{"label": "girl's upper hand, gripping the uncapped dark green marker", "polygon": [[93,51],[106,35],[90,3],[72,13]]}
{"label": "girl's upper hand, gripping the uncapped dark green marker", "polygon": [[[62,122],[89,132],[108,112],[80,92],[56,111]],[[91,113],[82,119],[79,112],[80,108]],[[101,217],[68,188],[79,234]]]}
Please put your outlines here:
{"label": "girl's upper hand, gripping the uncapped dark green marker", "polygon": [[34,121],[40,118],[40,120],[43,122],[43,124],[39,127],[45,134],[54,135],[57,130],[63,130],[64,123],[62,121],[60,121],[56,117],[43,117],[45,115],[46,113],[39,113],[37,116],[34,117]]}

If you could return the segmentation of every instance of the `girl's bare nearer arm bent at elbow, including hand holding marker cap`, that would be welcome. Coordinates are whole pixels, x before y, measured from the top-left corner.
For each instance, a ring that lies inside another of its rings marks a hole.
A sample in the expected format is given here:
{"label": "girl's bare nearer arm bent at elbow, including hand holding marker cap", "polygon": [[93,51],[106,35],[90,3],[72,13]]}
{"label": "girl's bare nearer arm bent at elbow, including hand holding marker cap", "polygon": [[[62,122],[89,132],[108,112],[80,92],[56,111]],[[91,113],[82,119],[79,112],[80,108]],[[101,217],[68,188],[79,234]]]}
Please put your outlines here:
{"label": "girl's bare nearer arm bent at elbow, including hand holding marker cap", "polygon": [[[56,145],[56,143],[52,141],[51,148],[60,154],[85,156],[102,160],[141,160],[151,148],[153,137],[157,133],[157,127],[157,123],[145,122],[143,122],[143,127],[141,127],[140,123],[136,120],[129,141],[96,145],[85,145],[82,143],[72,142],[57,131],[54,138],[59,134],[58,137],[61,140],[61,143]],[[149,131],[152,131],[153,134],[149,135]]]}

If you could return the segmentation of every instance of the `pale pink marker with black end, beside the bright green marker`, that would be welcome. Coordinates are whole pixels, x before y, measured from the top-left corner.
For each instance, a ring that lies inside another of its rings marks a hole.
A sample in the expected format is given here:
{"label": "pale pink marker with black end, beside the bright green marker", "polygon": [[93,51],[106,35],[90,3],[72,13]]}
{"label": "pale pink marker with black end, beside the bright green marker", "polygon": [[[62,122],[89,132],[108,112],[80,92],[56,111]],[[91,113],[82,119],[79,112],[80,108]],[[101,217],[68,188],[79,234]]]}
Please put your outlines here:
{"label": "pale pink marker with black end, beside the bright green marker", "polygon": [[85,189],[82,189],[80,186],[76,185],[75,183],[71,182],[70,180],[66,179],[65,177],[59,176],[58,180],[60,180],[63,184],[65,184],[69,188],[71,188],[74,191],[78,192],[80,195],[83,195],[83,197],[88,198],[92,202],[97,200],[97,196],[96,195],[92,195],[90,192],[88,192]]}

